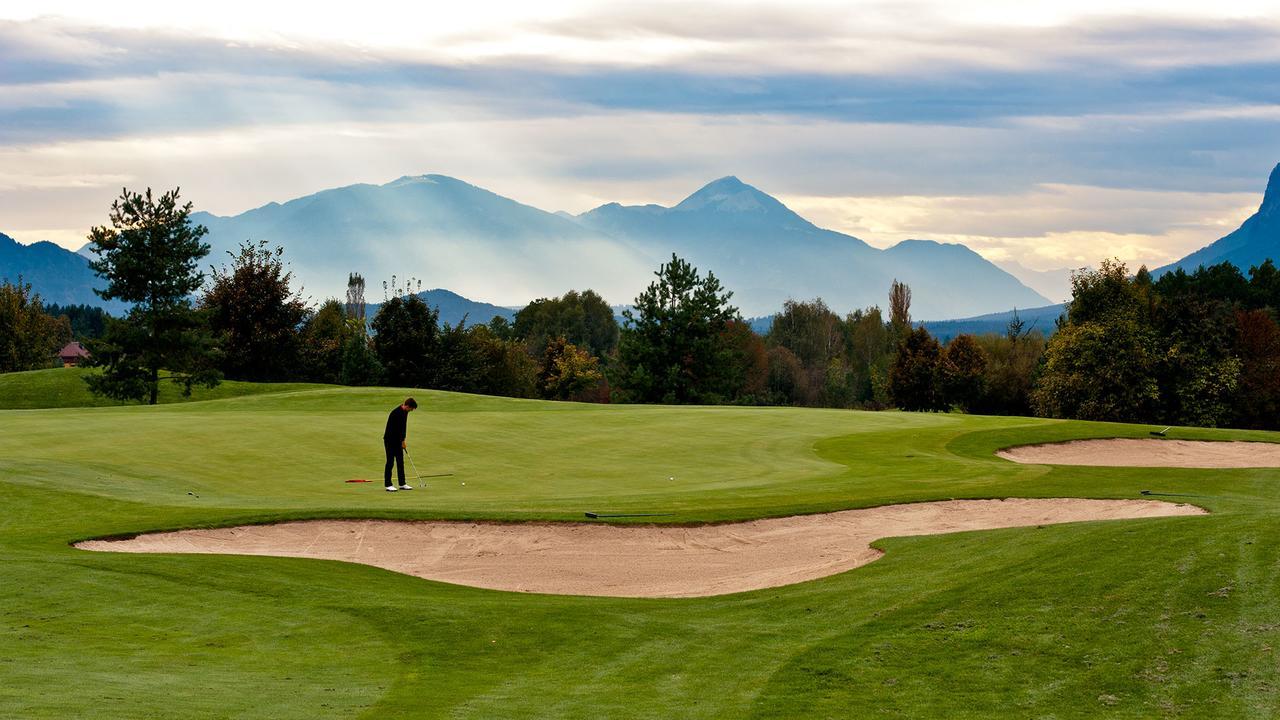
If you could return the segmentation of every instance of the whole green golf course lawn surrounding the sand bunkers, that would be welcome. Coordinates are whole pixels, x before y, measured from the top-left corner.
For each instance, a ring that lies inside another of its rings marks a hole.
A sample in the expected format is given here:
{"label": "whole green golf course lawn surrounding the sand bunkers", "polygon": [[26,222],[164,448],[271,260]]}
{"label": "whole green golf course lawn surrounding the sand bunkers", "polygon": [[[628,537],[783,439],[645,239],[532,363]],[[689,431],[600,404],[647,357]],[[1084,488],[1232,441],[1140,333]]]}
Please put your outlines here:
{"label": "whole green golf course lawn surrounding the sand bunkers", "polygon": [[[408,391],[252,386],[216,400],[72,407],[40,397],[65,384],[61,372],[0,375],[0,406],[56,406],[0,410],[0,717],[1280,714],[1280,470],[1050,468],[993,455],[1147,437],[1148,427],[412,391],[417,470],[452,475],[392,495],[380,437]],[[891,538],[877,543],[884,557],[852,571],[692,600],[507,593],[334,561],[69,544],[303,518],[596,511],[701,523],[1142,489],[1201,496],[1169,500],[1211,514]]]}

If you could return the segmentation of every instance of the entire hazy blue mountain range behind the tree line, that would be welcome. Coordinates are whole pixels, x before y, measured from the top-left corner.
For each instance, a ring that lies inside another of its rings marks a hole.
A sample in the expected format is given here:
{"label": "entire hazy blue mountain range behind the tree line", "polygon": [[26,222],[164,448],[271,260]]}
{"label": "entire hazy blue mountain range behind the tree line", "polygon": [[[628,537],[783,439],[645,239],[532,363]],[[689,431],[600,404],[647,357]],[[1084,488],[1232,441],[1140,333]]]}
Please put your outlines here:
{"label": "entire hazy blue mountain range behind the tree line", "polygon": [[[372,302],[383,279],[413,275],[449,287],[462,302],[471,302],[462,296],[484,297],[509,307],[593,288],[625,305],[675,252],[714,272],[748,316],[772,315],[787,299],[823,297],[840,313],[884,305],[890,282],[901,279],[913,290],[914,316],[942,319],[1050,305],[1062,299],[1069,273],[1037,274],[1012,263],[1002,269],[963,245],[928,240],[879,250],[819,228],[733,177],[669,208],[609,202],[571,215],[445,176],[417,176],[326,190],[233,217],[196,213],[193,220],[210,229],[207,264],[227,263],[225,252],[248,240],[284,246],[303,295],[314,300],[340,297],[347,273],[361,272]],[[1258,213],[1240,229],[1156,272],[1221,260],[1247,270],[1277,255],[1280,165]],[[0,234],[0,278],[18,275],[46,301],[104,305],[92,292],[100,281],[84,258]],[[454,315],[443,313],[445,305],[462,307],[458,301],[436,299],[442,319]],[[484,322],[479,315],[504,310],[493,305],[467,313],[470,322]]]}

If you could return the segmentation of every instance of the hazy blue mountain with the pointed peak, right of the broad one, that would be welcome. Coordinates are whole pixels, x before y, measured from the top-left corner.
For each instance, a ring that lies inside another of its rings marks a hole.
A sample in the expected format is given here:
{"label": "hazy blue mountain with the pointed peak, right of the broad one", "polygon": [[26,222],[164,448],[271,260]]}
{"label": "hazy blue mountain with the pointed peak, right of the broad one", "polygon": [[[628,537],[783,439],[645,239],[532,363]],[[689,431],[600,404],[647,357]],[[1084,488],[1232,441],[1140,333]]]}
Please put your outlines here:
{"label": "hazy blue mountain with the pointed peak, right of the broad one", "polygon": [[918,316],[1048,302],[963,245],[911,240],[877,250],[814,225],[735,177],[714,181],[672,208],[611,202],[577,219],[659,261],[675,252],[714,272],[749,315],[814,297],[838,313],[883,306],[893,279],[911,286]]}

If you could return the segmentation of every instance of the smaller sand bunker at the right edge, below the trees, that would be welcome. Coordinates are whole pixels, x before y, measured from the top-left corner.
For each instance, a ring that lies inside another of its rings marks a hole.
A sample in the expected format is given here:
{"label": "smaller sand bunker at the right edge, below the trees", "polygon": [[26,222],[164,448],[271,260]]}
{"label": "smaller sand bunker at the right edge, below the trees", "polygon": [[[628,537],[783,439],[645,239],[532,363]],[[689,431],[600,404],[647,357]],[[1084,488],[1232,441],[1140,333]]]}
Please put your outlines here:
{"label": "smaller sand bunker at the right edge, below the trees", "polygon": [[1280,468],[1280,443],[1192,439],[1078,439],[1024,445],[997,452],[1036,465],[1111,468]]}

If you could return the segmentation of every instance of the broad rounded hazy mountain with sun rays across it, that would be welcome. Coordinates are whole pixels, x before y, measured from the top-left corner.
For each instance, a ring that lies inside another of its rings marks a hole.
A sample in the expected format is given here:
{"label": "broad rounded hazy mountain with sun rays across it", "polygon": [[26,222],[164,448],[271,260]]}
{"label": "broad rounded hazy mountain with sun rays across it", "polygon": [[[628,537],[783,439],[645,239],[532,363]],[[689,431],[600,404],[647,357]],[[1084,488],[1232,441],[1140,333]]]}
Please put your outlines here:
{"label": "broad rounded hazy mountain with sun rays across it", "polygon": [[370,288],[413,277],[465,296],[524,305],[594,287],[627,299],[650,259],[572,219],[522,205],[445,176],[402,177],[271,202],[223,218],[195,213],[209,228],[211,263],[247,240],[283,246],[311,296],[340,297],[347,274]]}

